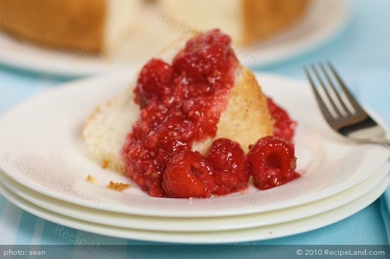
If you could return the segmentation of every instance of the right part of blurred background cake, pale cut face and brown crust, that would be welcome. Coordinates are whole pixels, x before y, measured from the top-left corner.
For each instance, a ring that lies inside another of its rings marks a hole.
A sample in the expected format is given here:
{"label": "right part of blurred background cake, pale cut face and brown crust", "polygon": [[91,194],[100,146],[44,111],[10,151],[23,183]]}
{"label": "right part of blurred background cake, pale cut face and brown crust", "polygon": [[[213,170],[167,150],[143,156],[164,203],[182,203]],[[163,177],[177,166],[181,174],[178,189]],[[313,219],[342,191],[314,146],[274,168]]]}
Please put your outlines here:
{"label": "right part of blurred background cake, pale cut face and brown crust", "polygon": [[238,45],[251,45],[302,18],[308,0],[161,0],[167,16],[191,30],[221,28]]}

